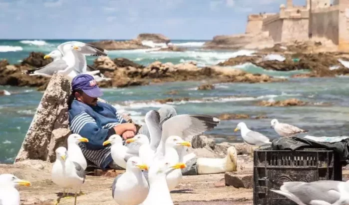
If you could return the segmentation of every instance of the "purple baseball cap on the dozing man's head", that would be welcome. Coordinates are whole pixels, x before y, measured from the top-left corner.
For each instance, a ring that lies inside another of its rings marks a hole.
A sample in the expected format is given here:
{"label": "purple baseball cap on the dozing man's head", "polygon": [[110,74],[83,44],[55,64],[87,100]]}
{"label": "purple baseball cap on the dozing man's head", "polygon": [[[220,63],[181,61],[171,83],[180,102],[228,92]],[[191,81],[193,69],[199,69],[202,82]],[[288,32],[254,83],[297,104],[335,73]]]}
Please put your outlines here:
{"label": "purple baseball cap on the dozing man's head", "polygon": [[100,97],[102,90],[97,86],[96,80],[89,74],[76,75],[71,81],[72,90],[81,89],[90,97]]}

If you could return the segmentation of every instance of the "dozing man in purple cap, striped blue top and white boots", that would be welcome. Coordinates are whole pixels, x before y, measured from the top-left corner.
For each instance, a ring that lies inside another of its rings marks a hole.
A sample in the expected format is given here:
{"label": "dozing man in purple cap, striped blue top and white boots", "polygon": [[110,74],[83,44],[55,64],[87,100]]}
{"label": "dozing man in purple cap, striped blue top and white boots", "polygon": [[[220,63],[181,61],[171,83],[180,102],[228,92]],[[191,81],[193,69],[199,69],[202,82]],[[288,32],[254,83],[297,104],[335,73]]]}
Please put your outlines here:
{"label": "dozing man in purple cap, striped blue top and white boots", "polygon": [[[103,93],[91,75],[79,74],[75,76],[71,82],[71,87],[74,100],[69,108],[70,130],[89,140],[88,143],[79,143],[82,153],[86,159],[98,167],[103,169],[108,165],[115,167],[112,163],[110,146],[104,147],[103,142],[113,134],[120,135],[124,140],[132,138],[137,132],[136,126],[123,119],[115,107],[97,100]],[[177,114],[171,106],[163,106],[158,111],[160,123]],[[146,125],[143,125],[138,133],[149,137]],[[182,170],[184,175],[236,170],[236,150],[234,147],[228,148],[226,158],[194,157],[186,164],[187,168]]]}

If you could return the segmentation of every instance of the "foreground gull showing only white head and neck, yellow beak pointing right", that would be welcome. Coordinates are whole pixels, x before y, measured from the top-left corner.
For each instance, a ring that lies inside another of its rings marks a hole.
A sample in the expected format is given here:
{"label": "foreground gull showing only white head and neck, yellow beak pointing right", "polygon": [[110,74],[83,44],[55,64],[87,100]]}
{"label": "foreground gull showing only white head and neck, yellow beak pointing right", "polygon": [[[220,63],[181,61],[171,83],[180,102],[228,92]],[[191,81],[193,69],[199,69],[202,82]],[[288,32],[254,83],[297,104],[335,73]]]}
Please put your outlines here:
{"label": "foreground gull showing only white head and neck, yellow beak pointing right", "polygon": [[166,175],[179,168],[185,168],[184,163],[171,164],[165,159],[155,161],[149,166],[149,193],[142,205],[173,205],[166,182]]}

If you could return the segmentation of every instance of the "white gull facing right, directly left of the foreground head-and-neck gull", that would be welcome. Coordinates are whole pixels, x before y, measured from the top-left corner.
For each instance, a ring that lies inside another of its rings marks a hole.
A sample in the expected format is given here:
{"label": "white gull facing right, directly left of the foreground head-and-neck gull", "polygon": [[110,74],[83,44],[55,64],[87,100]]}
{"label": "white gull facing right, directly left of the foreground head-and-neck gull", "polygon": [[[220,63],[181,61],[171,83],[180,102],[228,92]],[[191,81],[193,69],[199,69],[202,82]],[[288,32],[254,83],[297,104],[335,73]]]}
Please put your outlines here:
{"label": "white gull facing right, directly left of the foreground head-and-neck gull", "polygon": [[138,156],[132,156],[126,163],[126,171],[115,177],[112,196],[119,205],[138,205],[148,195],[149,184],[143,175],[148,166]]}

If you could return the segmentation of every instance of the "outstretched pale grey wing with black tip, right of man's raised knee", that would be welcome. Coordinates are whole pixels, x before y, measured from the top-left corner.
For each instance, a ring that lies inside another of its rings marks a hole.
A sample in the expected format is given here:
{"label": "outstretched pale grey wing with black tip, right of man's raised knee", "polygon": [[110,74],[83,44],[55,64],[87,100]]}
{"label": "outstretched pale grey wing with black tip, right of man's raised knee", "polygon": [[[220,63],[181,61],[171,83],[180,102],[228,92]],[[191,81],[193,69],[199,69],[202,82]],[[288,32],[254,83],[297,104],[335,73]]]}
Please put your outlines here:
{"label": "outstretched pale grey wing with black tip, right of man's raised knee", "polygon": [[220,123],[216,117],[200,114],[180,114],[167,119],[162,124],[160,144],[157,154],[165,154],[165,142],[171,135],[180,136],[185,140],[191,140],[195,135],[211,130]]}

